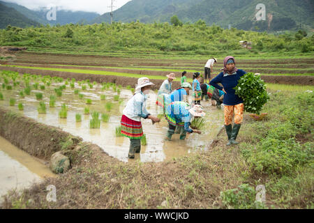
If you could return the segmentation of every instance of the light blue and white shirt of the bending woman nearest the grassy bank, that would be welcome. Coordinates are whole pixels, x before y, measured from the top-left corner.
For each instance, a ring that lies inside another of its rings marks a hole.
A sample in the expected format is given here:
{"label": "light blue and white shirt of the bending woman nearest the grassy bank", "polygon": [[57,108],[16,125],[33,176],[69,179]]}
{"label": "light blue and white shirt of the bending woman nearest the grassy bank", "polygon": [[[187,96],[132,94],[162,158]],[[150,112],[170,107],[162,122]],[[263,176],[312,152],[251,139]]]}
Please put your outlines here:
{"label": "light blue and white shirt of the bending woman nearest the grassy bank", "polygon": [[189,107],[186,102],[172,102],[168,105],[166,109],[166,117],[175,123],[183,123],[184,122],[184,130],[186,132],[192,133],[193,130],[190,128],[190,121],[193,116],[188,112],[187,107]]}

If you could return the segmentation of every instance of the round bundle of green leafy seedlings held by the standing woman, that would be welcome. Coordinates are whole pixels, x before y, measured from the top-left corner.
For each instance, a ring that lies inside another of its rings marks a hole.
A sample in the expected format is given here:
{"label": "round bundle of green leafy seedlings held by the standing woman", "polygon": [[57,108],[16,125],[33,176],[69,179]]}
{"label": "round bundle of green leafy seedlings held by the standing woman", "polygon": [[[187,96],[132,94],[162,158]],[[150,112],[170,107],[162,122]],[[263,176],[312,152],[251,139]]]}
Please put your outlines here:
{"label": "round bundle of green leafy seedlings held by the standing woman", "polygon": [[234,87],[235,93],[244,100],[244,110],[260,114],[263,105],[269,100],[264,81],[260,75],[247,73],[239,79]]}

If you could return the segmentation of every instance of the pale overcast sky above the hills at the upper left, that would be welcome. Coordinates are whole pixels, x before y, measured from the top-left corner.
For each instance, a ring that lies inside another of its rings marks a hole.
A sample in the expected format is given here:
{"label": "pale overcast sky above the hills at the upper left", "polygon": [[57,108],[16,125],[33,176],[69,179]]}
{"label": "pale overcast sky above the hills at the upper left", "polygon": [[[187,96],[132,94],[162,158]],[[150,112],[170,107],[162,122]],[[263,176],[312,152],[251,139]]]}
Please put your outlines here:
{"label": "pale overcast sky above the hills at the upper left", "polygon": [[[2,0],[17,3],[29,9],[47,7],[50,4],[66,10],[84,10],[99,14],[107,13],[111,9],[111,0]],[[114,10],[124,6],[130,0],[114,0]]]}

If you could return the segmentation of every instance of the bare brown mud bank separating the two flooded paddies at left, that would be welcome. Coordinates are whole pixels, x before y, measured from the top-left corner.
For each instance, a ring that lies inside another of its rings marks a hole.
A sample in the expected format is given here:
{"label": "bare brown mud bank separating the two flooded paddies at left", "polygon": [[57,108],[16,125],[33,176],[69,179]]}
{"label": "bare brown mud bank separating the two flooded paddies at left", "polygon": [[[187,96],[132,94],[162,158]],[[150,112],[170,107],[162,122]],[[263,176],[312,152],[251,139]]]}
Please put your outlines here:
{"label": "bare brown mud bank separating the two flooded paddies at left", "polygon": [[43,125],[3,107],[0,107],[0,135],[17,148],[45,160],[49,160],[53,153],[61,151],[62,144],[68,139],[73,142],[71,148],[82,141],[68,132]]}

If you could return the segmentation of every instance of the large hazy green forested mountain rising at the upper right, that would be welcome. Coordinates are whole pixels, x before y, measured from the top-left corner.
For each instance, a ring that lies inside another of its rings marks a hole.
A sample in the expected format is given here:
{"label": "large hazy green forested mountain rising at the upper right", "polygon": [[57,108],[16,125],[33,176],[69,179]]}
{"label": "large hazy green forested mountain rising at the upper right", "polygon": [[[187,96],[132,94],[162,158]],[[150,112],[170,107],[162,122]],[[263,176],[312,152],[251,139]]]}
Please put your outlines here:
{"label": "large hazy green forested mountain rising at the upper right", "polygon": [[[114,21],[170,22],[177,15],[181,22],[204,20],[207,24],[229,25],[237,29],[278,31],[314,28],[314,1],[311,0],[133,0],[114,11]],[[266,20],[256,21],[258,3],[266,6]],[[110,22],[110,13],[91,23]]]}

